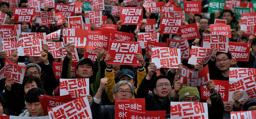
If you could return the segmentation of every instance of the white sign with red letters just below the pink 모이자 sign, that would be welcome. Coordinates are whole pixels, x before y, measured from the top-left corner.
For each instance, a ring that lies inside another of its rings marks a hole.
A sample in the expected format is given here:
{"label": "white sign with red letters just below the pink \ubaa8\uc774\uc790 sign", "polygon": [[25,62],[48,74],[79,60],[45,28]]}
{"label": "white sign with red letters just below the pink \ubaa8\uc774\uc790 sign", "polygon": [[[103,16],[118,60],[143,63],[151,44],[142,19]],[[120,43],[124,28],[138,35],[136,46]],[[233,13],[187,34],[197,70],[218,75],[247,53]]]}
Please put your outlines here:
{"label": "white sign with red letters just below the pink \ubaa8\uc774\uc790 sign", "polygon": [[227,53],[228,37],[223,35],[215,35],[204,33],[203,36],[204,48],[216,48],[217,51]]}

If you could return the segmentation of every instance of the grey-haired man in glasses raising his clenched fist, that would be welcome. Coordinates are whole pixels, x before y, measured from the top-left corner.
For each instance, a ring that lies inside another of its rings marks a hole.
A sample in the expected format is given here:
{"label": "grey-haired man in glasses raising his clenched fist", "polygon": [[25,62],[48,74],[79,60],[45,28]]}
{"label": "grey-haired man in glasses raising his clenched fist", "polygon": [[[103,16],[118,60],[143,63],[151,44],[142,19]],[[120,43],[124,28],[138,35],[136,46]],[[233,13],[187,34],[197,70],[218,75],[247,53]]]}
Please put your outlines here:
{"label": "grey-haired man in glasses raising his clenched fist", "polygon": [[[115,105],[101,105],[101,95],[108,84],[108,80],[107,77],[100,80],[99,89],[90,104],[93,119],[114,119]],[[133,98],[134,90],[135,87],[127,80],[119,81],[113,87],[113,98],[131,99]]]}

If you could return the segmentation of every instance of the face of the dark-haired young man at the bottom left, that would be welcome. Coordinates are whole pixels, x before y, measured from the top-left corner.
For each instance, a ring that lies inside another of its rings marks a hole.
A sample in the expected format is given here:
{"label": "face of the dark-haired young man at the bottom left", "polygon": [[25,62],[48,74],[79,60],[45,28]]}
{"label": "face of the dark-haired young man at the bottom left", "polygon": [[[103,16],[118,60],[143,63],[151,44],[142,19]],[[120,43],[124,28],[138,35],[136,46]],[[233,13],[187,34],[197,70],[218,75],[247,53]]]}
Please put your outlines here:
{"label": "face of the dark-haired young man at the bottom left", "polygon": [[27,102],[27,108],[31,116],[44,116],[44,111],[40,102]]}

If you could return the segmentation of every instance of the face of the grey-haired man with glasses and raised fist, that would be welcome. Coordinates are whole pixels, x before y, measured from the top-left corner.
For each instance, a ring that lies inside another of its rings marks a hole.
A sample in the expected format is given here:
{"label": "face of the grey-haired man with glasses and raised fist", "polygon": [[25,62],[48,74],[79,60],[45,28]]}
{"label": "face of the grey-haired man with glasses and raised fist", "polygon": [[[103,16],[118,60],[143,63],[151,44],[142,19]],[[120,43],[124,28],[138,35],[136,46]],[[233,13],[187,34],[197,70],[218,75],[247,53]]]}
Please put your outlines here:
{"label": "face of the grey-haired man with glasses and raised fist", "polygon": [[[121,85],[119,86],[116,91],[132,91],[131,87],[128,84],[125,85]],[[113,94],[114,99],[131,99],[132,98],[132,93],[131,94],[125,94],[125,92],[123,92],[122,94],[119,93],[114,93]]]}

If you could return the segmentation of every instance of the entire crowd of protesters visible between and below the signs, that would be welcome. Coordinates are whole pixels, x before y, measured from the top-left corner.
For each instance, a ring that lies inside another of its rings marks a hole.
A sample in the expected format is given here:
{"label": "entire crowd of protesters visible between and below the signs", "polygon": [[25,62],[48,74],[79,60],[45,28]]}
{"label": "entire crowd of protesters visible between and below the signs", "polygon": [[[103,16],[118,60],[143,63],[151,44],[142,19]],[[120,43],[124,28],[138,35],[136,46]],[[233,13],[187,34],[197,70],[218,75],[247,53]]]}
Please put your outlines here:
{"label": "entire crowd of protesters visible between and below the signs", "polygon": [[[78,0],[82,2],[83,0]],[[157,0],[154,0],[157,2]],[[161,0],[162,1],[162,0]],[[250,2],[250,0],[242,0]],[[163,0],[165,4],[168,0]],[[180,2],[173,0],[178,7]],[[18,0],[19,7],[26,7],[27,0]],[[55,3],[69,4],[69,0],[57,1]],[[188,22],[183,22],[183,25],[196,23],[201,38],[189,40],[190,46],[201,45],[204,33],[209,33],[211,29],[208,27],[213,24],[214,19],[225,19],[227,25],[230,25],[232,37],[229,39],[232,42],[247,42],[251,43],[251,51],[249,61],[236,61],[230,53],[217,52],[212,55],[209,64],[209,77],[214,80],[229,80],[230,67],[256,68],[256,40],[254,34],[244,36],[240,30],[241,19],[236,19],[234,11],[225,9],[222,13],[208,13],[209,0],[202,1],[201,14],[189,14]],[[106,5],[115,5],[124,7],[122,0],[111,2],[105,0]],[[143,7],[143,6],[135,6]],[[9,3],[1,2],[0,11],[7,14],[4,24],[13,25],[13,11]],[[77,16],[82,14],[76,14]],[[115,24],[118,30],[122,32],[134,33],[134,41],[137,41],[136,25],[120,25],[122,21],[119,17],[108,16],[107,23]],[[162,14],[160,15],[163,16]],[[83,16],[84,18],[84,16]],[[156,29],[154,32],[160,32],[160,19],[157,14],[151,14],[143,9],[144,19],[156,19]],[[33,23],[21,23],[22,32],[44,32],[52,33],[56,30],[68,27],[67,20],[64,19],[64,24],[57,26],[55,24],[47,26],[39,26],[35,23],[36,17],[33,18]],[[140,32],[145,32],[146,22],[141,22]],[[95,25],[91,23],[91,30],[94,30]],[[180,40],[180,35],[164,34],[160,35],[159,42],[166,42],[167,38]],[[47,41],[52,42],[51,39]],[[60,41],[62,39],[60,38]],[[245,99],[239,101],[242,97],[240,91],[235,91],[233,100],[224,102],[220,94],[215,89],[215,83],[212,80],[207,82],[207,89],[210,92],[209,100],[201,100],[200,90],[196,87],[183,86],[180,81],[180,73],[183,66],[190,67],[193,70],[201,70],[205,65],[198,63],[195,66],[187,64],[188,60],[183,60],[179,64],[178,69],[160,68],[157,72],[157,66],[148,58],[146,51],[142,49],[142,53],[138,53],[135,58],[141,62],[140,66],[133,67],[128,65],[107,64],[111,55],[103,56],[105,50],[103,47],[97,47],[97,59],[92,61],[90,58],[84,58],[84,48],[77,48],[80,61],[76,67],[76,77],[70,74],[70,64],[72,61],[72,50],[74,44],[67,44],[66,57],[63,59],[53,58],[48,52],[47,45],[42,47],[41,56],[18,56],[19,51],[15,51],[11,55],[11,61],[15,64],[25,66],[26,74],[22,84],[15,83],[13,78],[7,76],[6,79],[0,80],[0,115],[15,115],[15,116],[44,116],[38,96],[47,94],[51,96],[59,96],[59,79],[55,78],[52,68],[52,61],[62,61],[61,78],[89,78],[90,79],[90,95],[87,95],[90,102],[93,119],[114,119],[115,99],[131,99],[145,98],[146,111],[166,110],[166,118],[170,116],[170,102],[207,102],[209,119],[230,119],[231,111],[255,111],[256,98]],[[6,58],[5,51],[0,52],[0,68],[3,68]]]}

